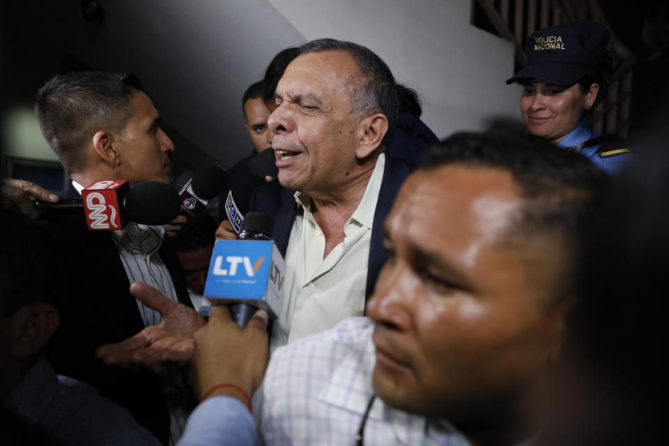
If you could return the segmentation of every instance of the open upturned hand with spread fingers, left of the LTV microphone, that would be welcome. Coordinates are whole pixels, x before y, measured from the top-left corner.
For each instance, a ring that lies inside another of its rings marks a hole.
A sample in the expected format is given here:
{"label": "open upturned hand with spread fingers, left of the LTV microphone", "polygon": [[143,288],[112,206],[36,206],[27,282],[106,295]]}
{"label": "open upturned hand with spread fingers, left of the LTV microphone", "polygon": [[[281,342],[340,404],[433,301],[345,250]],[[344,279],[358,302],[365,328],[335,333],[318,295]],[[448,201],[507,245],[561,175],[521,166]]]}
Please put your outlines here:
{"label": "open upturned hand with spread fingers, left of the LTV microphone", "polygon": [[194,309],[169,300],[141,282],[130,285],[130,294],[160,312],[163,321],[144,328],[125,341],[101,346],[95,352],[107,365],[161,371],[167,364],[185,364],[193,353],[193,334],[204,325]]}

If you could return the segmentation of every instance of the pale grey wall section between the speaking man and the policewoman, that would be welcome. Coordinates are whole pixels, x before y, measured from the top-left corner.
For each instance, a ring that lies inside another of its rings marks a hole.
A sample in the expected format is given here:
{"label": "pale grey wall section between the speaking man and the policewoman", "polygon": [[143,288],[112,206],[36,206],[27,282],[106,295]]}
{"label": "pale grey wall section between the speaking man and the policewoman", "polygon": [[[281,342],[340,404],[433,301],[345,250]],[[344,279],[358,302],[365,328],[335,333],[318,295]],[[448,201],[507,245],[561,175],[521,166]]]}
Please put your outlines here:
{"label": "pale grey wall section between the speaking man and the policewoman", "polygon": [[420,93],[423,121],[445,137],[518,120],[514,46],[470,24],[470,0],[270,0],[307,40],[372,49],[398,82]]}

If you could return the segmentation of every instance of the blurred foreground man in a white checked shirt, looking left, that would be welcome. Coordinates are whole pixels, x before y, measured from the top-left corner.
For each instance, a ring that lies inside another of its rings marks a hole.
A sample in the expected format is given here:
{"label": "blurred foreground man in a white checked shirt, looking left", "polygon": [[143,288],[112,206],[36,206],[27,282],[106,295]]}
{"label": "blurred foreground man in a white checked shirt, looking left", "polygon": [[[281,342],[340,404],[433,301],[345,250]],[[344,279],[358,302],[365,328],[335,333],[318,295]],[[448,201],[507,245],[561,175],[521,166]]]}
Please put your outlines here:
{"label": "blurred foreground man in a white checked shirt, looking left", "polygon": [[[385,222],[369,318],[272,355],[267,445],[516,445],[534,436],[574,303],[585,158],[533,137],[433,146]],[[539,403],[539,406],[537,406]]]}

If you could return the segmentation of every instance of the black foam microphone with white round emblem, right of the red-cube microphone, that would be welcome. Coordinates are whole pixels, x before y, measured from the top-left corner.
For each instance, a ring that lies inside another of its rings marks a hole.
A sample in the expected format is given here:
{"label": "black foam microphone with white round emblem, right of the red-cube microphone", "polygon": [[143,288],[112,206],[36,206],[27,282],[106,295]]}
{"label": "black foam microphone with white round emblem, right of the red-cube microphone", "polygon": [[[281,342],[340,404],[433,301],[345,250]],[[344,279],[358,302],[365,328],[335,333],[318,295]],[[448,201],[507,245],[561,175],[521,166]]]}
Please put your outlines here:
{"label": "black foam microphone with white round emblem, right of the red-cube microphone", "polygon": [[227,184],[228,177],[220,167],[199,169],[179,192],[181,210],[191,217],[200,215],[209,201],[223,192]]}

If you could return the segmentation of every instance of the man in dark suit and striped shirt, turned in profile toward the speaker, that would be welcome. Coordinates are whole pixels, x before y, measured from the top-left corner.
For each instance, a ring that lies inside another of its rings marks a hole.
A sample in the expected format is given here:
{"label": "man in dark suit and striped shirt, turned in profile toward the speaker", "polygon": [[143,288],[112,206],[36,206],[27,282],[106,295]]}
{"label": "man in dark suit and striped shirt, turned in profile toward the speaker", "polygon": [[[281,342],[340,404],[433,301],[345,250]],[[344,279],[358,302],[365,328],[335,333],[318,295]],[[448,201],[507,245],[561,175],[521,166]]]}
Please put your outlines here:
{"label": "man in dark suit and striped shirt, turned in profile toward the speaker", "polygon": [[[57,75],[38,91],[36,114],[72,183],[61,198],[78,197],[100,180],[169,181],[171,139],[132,75],[75,72]],[[157,325],[162,316],[130,294],[146,282],[174,302],[190,305],[183,271],[162,226],[130,223],[122,231],[86,231],[82,216],[52,217],[66,238],[63,262],[72,272],[70,299],[48,354],[57,372],[84,380],[130,410],[164,443],[178,438],[192,408],[178,368],[152,374],[109,367],[95,357],[103,344]]]}

